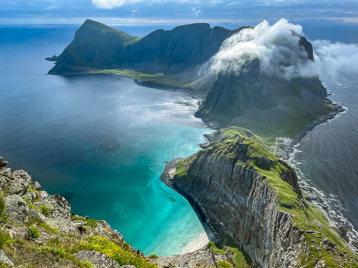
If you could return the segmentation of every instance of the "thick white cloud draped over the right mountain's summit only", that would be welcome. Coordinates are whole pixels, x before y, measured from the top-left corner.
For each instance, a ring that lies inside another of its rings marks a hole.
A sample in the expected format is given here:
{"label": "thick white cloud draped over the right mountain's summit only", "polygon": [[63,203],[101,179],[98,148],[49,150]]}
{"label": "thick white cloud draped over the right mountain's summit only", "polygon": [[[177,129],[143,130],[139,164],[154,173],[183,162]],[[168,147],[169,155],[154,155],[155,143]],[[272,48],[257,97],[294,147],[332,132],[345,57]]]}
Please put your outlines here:
{"label": "thick white cloud draped over the right mountain's summit only", "polygon": [[[299,36],[292,31],[303,34],[300,25],[286,19],[280,19],[272,26],[264,20],[255,28],[241,30],[222,43],[219,52],[209,61],[210,69],[239,73],[248,59],[258,58],[261,70],[266,74],[285,79],[302,76],[308,55],[299,45]],[[312,73],[304,75],[311,76]]]}

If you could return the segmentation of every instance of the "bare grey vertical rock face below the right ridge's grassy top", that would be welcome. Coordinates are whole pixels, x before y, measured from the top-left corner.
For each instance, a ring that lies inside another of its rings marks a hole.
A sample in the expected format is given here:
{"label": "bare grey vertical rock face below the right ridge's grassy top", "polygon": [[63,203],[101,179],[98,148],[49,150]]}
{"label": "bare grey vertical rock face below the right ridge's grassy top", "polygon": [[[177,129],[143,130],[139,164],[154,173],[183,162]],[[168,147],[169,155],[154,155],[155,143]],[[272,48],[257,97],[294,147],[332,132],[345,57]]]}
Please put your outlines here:
{"label": "bare grey vertical rock face below the right ridge's grassy top", "polygon": [[[219,239],[233,237],[259,266],[295,267],[302,250],[300,230],[291,214],[278,210],[271,184],[245,164],[259,159],[251,158],[240,138],[230,151],[232,157],[220,156],[218,150],[211,147],[185,159],[188,177],[174,176],[174,188],[200,207]],[[261,161],[275,165],[270,159]],[[302,197],[294,170],[282,177]]]}

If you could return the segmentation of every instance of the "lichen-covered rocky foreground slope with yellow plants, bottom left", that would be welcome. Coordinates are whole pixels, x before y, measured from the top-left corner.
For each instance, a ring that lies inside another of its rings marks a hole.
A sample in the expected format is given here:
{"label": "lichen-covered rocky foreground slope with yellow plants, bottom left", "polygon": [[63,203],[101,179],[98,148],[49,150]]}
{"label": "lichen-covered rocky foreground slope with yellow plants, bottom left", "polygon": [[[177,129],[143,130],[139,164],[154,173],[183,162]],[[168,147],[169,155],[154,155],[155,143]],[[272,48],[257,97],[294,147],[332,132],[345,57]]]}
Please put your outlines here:
{"label": "lichen-covered rocky foreground slope with yellow plants, bottom left", "polygon": [[233,262],[209,249],[145,257],[105,221],[72,214],[62,196],[41,190],[25,170],[11,172],[6,165],[0,156],[0,267],[230,268],[218,263]]}

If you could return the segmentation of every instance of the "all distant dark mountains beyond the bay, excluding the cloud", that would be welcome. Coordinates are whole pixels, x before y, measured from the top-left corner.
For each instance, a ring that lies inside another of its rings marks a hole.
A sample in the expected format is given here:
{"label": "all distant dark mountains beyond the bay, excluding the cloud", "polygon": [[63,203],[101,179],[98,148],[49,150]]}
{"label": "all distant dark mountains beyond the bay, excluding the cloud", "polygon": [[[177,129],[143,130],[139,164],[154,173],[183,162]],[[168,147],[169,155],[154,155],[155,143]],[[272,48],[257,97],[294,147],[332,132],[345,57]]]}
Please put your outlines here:
{"label": "all distant dark mountains beyond the bay, excluding the cloud", "polygon": [[[268,75],[257,57],[248,57],[239,72],[226,66],[212,70],[208,63],[222,43],[243,29],[254,28],[228,30],[194,23],[141,38],[87,19],[61,55],[47,58],[56,61],[49,74],[124,73],[143,85],[185,88],[205,98],[197,117],[261,136],[295,137],[305,125],[338,109],[324,99],[327,92],[318,77]],[[305,52],[303,59],[314,61],[311,43],[293,31],[292,35]]]}

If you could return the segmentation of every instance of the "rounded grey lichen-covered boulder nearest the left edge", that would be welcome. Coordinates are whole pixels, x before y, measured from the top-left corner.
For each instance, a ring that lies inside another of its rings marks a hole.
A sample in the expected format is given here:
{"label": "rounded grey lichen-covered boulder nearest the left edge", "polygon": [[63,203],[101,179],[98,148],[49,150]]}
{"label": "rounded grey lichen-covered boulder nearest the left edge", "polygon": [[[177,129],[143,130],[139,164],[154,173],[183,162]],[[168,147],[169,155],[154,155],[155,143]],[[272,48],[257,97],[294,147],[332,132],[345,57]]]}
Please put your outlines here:
{"label": "rounded grey lichen-covered boulder nearest the left edge", "polygon": [[11,194],[4,198],[5,213],[8,221],[15,224],[27,224],[29,222],[30,208],[28,203],[17,194]]}

